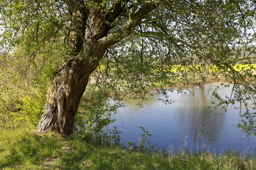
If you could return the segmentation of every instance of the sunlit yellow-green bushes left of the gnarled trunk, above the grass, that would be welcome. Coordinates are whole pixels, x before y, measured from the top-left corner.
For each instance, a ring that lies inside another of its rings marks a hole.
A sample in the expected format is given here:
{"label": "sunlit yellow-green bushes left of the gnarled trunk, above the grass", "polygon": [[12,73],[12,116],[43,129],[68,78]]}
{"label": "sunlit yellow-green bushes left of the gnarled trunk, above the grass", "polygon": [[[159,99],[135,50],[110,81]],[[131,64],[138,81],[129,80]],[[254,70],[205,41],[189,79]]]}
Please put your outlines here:
{"label": "sunlit yellow-green bushes left of the gnarled trunk, above the grass", "polygon": [[44,59],[41,53],[31,61],[31,56],[20,58],[22,55],[26,55],[22,47],[15,49],[0,68],[0,128],[35,128],[43,114],[46,84],[54,73],[57,56]]}

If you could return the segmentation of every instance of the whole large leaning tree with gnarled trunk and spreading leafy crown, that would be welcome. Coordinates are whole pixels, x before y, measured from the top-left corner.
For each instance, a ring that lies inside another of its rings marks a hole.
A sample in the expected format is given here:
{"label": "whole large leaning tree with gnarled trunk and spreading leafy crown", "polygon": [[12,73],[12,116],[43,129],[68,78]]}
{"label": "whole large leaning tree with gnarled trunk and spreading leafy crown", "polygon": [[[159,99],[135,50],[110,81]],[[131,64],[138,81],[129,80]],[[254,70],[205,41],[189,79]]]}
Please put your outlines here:
{"label": "whole large leaning tree with gnarled trunk and spreading leafy crown", "polygon": [[[236,87],[243,85],[250,97],[255,94],[251,69],[239,73],[232,67],[254,58],[241,54],[255,53],[249,46],[255,42],[255,31],[248,32],[255,28],[255,1],[4,0],[0,11],[0,44],[5,49],[22,45],[32,59],[39,52],[50,54],[52,48],[65,49],[48,86],[40,132],[72,133],[89,76],[104,57],[120,70],[118,63],[125,62],[122,50],[134,45],[129,42],[141,46],[134,46],[141,55],[133,61],[141,66],[147,57],[158,61],[151,66],[158,67],[160,78],[170,78],[167,66],[207,63],[232,75]],[[152,78],[145,71],[143,76]],[[240,97],[242,102],[246,96]]]}

